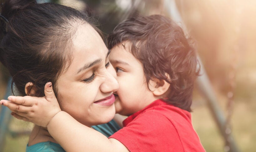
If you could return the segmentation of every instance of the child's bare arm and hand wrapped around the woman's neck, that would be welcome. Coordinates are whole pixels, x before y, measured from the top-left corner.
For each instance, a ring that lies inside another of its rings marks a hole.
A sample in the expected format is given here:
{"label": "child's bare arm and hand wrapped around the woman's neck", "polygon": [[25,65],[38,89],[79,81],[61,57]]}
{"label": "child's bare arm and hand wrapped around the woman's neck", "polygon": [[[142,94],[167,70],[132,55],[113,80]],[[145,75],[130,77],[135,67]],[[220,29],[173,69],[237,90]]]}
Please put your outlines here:
{"label": "child's bare arm and hand wrapped around the woman's neck", "polygon": [[45,86],[45,97],[15,97],[0,103],[11,109],[17,119],[47,127],[52,137],[66,151],[129,151],[116,139],[82,125],[68,113],[60,111],[52,87]]}

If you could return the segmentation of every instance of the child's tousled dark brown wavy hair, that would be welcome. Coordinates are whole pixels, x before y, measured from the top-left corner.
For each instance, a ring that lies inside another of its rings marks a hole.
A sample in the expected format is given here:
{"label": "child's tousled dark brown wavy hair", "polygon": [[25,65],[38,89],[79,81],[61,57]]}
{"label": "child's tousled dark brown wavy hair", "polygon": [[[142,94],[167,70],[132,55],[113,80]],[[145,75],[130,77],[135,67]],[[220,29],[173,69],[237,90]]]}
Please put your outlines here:
{"label": "child's tousled dark brown wavy hair", "polygon": [[199,69],[196,51],[182,28],[161,15],[137,15],[115,27],[108,37],[108,49],[125,41],[130,42],[128,50],[142,63],[147,82],[157,78],[170,83],[170,93],[164,100],[191,112]]}

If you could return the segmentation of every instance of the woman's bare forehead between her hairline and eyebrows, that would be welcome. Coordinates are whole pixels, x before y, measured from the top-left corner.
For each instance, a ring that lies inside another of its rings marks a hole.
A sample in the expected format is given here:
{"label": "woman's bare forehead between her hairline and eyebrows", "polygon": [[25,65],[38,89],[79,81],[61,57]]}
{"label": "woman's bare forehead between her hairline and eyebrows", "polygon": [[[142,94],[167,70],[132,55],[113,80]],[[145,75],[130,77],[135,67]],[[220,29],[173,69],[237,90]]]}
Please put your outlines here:
{"label": "woman's bare forehead between her hairline and eyebrows", "polygon": [[108,49],[101,36],[90,25],[81,25],[77,28],[76,35],[72,39],[72,62],[66,63],[65,71],[77,73],[78,68],[94,62],[95,60],[105,61]]}

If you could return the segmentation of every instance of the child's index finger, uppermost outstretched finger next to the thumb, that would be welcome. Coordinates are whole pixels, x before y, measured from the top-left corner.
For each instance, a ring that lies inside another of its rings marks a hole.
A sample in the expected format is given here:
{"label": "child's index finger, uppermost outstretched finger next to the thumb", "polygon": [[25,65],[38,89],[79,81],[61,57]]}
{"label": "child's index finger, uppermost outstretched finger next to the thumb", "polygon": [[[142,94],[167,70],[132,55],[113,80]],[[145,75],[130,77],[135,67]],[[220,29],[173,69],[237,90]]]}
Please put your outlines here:
{"label": "child's index finger, uppermost outstretched finger next to the thumb", "polygon": [[23,106],[33,106],[34,104],[36,104],[36,100],[35,97],[31,97],[31,96],[24,96],[24,97],[19,97],[19,96],[9,96],[8,100],[23,105]]}

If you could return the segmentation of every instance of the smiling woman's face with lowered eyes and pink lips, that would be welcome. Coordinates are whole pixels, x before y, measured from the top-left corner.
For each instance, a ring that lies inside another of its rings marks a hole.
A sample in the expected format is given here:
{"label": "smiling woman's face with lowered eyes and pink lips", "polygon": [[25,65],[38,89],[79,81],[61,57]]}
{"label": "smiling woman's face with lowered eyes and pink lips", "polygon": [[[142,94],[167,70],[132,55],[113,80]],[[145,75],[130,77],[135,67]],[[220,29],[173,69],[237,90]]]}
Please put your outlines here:
{"label": "smiling woman's face with lowered eyes and pink lips", "polygon": [[119,86],[106,45],[88,24],[77,28],[71,43],[72,63],[57,80],[61,109],[86,126],[111,121],[115,115],[113,92]]}

